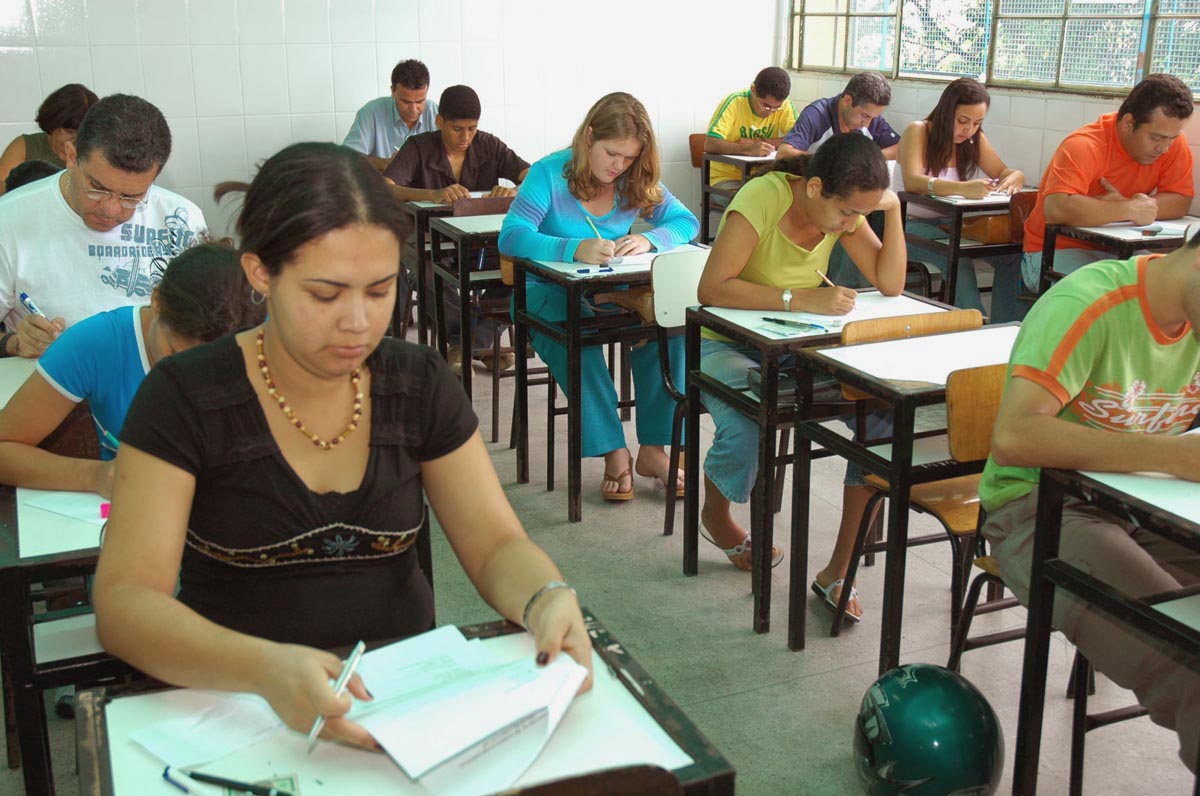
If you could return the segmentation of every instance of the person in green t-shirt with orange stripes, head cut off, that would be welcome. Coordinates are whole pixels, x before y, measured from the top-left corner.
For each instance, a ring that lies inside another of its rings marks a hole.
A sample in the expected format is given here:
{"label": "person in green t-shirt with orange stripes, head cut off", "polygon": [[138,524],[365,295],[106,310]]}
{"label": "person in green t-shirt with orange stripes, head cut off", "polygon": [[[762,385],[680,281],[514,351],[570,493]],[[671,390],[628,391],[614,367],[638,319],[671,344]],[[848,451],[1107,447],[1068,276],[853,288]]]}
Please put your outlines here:
{"label": "person in green t-shirt with orange stripes, head cut off", "polygon": [[[1033,305],[1013,347],[1009,378],[979,484],[983,533],[1004,583],[1030,595],[1040,467],[1150,471],[1200,481],[1200,225],[1166,256],[1102,261]],[[1127,594],[1200,582],[1200,556],[1067,498],[1061,557]],[[1088,604],[1055,600],[1054,624],[1151,718],[1180,736],[1195,772],[1200,675],[1110,622]]]}

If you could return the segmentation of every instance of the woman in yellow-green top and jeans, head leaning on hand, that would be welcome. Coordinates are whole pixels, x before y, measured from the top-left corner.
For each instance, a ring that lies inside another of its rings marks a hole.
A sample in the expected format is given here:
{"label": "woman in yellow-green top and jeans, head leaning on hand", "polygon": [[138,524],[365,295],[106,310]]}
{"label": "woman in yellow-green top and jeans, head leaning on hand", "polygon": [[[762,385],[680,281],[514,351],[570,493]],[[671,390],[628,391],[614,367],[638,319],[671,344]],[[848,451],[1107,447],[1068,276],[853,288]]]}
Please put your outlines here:
{"label": "woman in yellow-green top and jeans, head leaning on hand", "polygon": [[[863,216],[883,211],[883,243]],[[713,252],[700,280],[704,305],[744,310],[817,312],[839,316],[854,307],[857,293],[822,287],[829,252],[841,240],[846,253],[881,293],[898,295],[905,281],[905,245],[900,201],[888,190],[888,172],[875,143],[857,132],[829,138],[814,155],[787,157],[772,172],[738,191],[718,229]],[[701,340],[701,369],[726,383],[744,383],[746,370],[760,365],[757,351],[715,333]],[[820,388],[821,385],[818,385]],[[818,389],[827,400],[836,384]],[[758,426],[730,405],[707,396],[704,406],[716,426],[704,459],[704,507],[701,522],[709,539],[739,569],[751,568],[750,537],[733,521],[731,502],[745,503],[757,477]],[[868,436],[887,436],[887,418],[869,415]],[[829,563],[812,588],[835,606],[863,508],[870,497],[863,473],[846,467],[841,526]],[[778,563],[779,550],[772,551]],[[851,597],[846,616],[857,622],[862,608]]]}

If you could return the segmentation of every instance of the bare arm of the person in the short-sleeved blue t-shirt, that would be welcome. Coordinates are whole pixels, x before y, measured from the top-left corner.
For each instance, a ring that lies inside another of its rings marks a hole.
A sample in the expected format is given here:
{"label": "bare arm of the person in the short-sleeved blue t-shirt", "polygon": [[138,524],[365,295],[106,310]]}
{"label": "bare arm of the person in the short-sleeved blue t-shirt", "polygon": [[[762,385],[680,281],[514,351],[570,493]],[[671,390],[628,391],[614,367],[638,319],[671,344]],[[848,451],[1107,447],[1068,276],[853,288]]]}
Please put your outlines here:
{"label": "bare arm of the person in the short-sleeved blue t-shirt", "polygon": [[37,447],[74,407],[41,373],[25,379],[0,409],[0,483],[112,495],[112,461],[60,456]]}

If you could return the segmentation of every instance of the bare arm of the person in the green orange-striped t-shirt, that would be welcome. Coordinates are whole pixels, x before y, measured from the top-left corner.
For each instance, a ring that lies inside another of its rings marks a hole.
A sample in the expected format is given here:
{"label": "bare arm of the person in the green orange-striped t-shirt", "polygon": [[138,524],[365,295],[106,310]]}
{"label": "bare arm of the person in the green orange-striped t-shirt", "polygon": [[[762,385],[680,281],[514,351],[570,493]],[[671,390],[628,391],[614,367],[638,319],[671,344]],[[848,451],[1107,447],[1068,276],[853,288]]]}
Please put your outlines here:
{"label": "bare arm of the person in the green orange-striped t-shirt", "polygon": [[[1002,467],[1062,467],[1108,473],[1154,472],[1200,481],[1200,436],[1118,433],[1060,420],[1050,390],[1014,377],[1004,390],[991,437]],[[1055,444],[1045,444],[1054,439]]]}

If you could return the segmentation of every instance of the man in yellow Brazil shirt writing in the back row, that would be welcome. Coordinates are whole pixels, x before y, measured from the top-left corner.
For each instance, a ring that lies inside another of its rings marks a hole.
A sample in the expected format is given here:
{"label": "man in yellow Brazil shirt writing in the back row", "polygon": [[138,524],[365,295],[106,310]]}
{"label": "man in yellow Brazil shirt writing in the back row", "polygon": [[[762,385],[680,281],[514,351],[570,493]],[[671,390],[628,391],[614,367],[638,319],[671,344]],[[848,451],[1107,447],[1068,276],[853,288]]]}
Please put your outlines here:
{"label": "man in yellow Brazil shirt writing in the back row", "polygon": [[[708,122],[704,151],[719,155],[769,156],[780,138],[796,124],[796,106],[787,98],[792,78],[778,66],[768,66],[755,76],[746,91],[734,91],[721,101]],[[713,163],[708,173],[713,187],[737,188],[742,172],[727,163]],[[720,193],[713,202],[728,204]]]}

